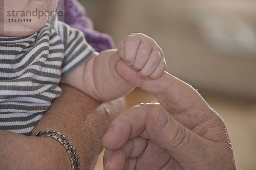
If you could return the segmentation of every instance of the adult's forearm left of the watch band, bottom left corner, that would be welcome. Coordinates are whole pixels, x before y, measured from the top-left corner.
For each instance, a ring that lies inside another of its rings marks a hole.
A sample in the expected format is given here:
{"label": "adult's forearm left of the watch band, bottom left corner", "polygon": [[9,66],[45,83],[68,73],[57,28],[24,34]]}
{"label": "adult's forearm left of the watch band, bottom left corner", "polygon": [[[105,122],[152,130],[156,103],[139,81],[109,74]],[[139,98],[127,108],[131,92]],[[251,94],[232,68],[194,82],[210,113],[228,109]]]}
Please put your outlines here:
{"label": "adult's forearm left of the watch band, bottom left corner", "polygon": [[50,138],[24,136],[6,130],[0,130],[0,136],[1,170],[65,170],[70,166],[69,160],[62,156],[66,153],[61,145]]}

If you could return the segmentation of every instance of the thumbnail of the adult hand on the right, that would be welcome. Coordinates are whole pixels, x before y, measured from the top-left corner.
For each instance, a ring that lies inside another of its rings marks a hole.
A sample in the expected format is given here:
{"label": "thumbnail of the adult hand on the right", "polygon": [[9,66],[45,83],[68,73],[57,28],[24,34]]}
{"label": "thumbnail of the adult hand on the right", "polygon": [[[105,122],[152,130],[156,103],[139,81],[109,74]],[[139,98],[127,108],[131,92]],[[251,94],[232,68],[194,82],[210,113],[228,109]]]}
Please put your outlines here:
{"label": "thumbnail of the adult hand on the right", "polygon": [[168,123],[168,117],[166,113],[163,112],[162,106],[158,108],[156,116],[154,117],[154,125],[158,129],[163,129]]}

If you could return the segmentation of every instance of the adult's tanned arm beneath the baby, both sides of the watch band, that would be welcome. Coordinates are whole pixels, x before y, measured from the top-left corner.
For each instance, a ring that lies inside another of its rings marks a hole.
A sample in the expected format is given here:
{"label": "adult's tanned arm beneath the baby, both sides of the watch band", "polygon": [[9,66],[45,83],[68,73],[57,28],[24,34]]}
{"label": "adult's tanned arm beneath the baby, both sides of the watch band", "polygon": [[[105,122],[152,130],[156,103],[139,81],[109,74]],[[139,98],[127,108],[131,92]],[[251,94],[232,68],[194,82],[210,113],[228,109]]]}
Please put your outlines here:
{"label": "adult's tanned arm beneath the baby, both sides of the watch band", "polygon": [[[81,91],[61,85],[63,94],[52,102],[35,126],[38,131],[56,130],[67,136],[77,149],[81,170],[89,170],[101,150],[100,141],[109,123],[123,110],[117,99],[101,103]],[[108,113],[108,111],[110,113]],[[0,169],[70,170],[64,148],[52,138],[23,136],[0,130]]]}

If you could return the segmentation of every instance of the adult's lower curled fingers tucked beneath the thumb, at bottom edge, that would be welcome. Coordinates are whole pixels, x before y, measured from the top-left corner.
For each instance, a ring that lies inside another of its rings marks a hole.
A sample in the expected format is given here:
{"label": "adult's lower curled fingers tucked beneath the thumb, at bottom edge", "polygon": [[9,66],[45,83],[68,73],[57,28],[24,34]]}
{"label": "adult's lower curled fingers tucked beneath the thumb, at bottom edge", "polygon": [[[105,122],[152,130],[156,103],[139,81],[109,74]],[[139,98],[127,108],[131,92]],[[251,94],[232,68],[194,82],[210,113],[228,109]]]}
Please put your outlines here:
{"label": "adult's lower curled fingers tucked beneath the thumb, at bottom edge", "polygon": [[165,150],[153,142],[136,137],[128,140],[118,150],[105,150],[103,162],[105,170],[160,170],[170,160]]}

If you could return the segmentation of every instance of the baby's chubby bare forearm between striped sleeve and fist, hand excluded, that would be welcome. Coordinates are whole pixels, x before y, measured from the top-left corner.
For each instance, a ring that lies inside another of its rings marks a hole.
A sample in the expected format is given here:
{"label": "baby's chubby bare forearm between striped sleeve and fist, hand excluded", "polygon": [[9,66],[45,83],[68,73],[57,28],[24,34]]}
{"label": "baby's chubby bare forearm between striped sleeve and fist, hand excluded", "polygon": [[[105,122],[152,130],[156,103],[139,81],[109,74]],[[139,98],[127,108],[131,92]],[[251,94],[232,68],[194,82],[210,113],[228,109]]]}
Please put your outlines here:
{"label": "baby's chubby bare forearm between striped sleeve and fist, hand excluded", "polygon": [[120,59],[117,49],[95,52],[61,82],[71,85],[99,101],[111,101],[128,94],[134,85],[122,79],[115,70]]}

